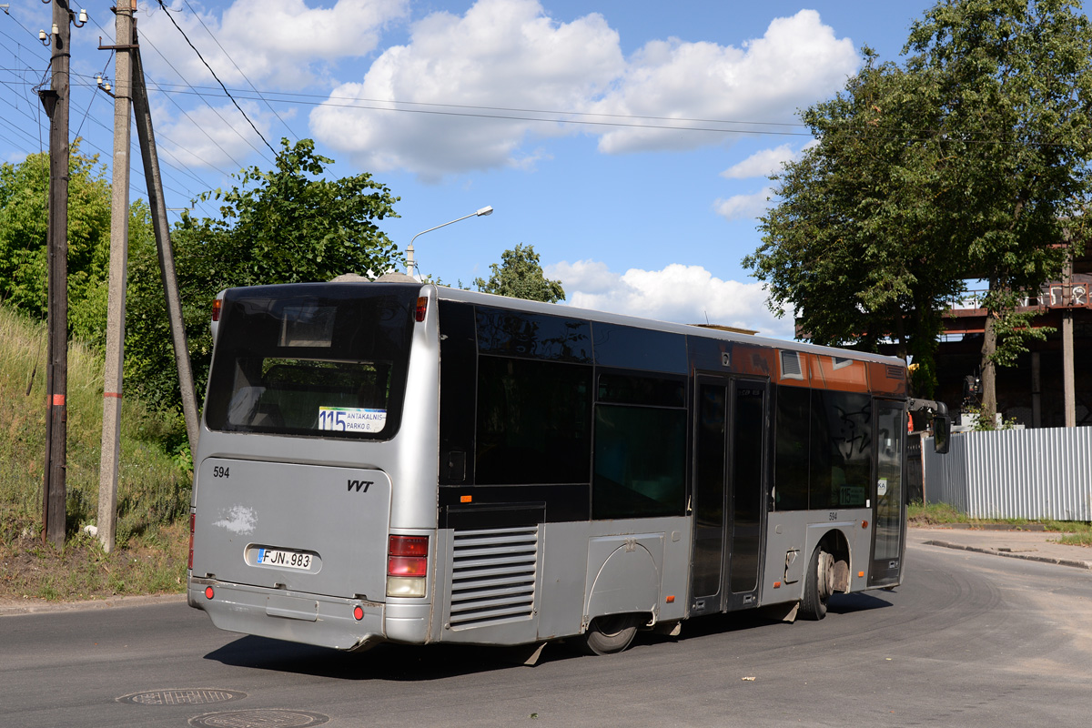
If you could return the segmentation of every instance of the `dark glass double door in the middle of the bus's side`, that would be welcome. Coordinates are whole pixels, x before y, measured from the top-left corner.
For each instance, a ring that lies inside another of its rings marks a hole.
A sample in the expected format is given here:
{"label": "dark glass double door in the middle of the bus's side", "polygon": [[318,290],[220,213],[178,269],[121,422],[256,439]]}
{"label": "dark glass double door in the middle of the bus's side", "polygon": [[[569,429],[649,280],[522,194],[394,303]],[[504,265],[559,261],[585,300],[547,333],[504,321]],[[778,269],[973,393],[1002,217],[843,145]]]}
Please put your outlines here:
{"label": "dark glass double door in the middle of the bus's side", "polygon": [[699,375],[690,614],[758,606],[767,383]]}

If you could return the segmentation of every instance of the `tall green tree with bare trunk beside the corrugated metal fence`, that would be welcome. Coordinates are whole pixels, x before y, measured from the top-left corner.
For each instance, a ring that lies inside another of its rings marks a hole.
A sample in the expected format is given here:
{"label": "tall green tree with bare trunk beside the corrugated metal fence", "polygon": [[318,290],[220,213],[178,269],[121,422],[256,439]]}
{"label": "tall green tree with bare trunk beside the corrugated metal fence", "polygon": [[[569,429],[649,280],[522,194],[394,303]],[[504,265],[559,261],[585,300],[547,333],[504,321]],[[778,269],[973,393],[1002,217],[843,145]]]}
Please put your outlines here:
{"label": "tall green tree with bare trunk beside the corrugated metal fence", "polygon": [[963,223],[952,247],[989,285],[981,370],[990,420],[995,367],[1043,335],[1013,312],[1020,293],[1060,275],[1066,226],[1087,225],[1092,26],[1080,10],[1067,0],[948,0],[914,23],[904,49],[952,158],[954,183],[938,201]]}

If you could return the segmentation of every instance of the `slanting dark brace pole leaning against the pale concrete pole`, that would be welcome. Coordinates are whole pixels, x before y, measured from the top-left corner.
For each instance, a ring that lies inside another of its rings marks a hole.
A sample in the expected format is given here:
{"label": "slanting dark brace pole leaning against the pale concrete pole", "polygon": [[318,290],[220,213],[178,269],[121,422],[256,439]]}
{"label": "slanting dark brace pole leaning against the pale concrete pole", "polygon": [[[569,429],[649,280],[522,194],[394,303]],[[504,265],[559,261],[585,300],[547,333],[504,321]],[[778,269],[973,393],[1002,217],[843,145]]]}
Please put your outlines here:
{"label": "slanting dark brace pole leaning against the pale concrete pole", "polygon": [[[136,29],[133,28],[133,44],[139,45]],[[159,251],[159,273],[163,276],[163,294],[167,298],[167,315],[170,319],[170,338],[175,347],[175,363],[178,367],[178,384],[182,395],[182,415],[186,418],[186,433],[190,442],[190,453],[198,451],[198,403],[193,392],[193,370],[190,367],[190,351],[186,346],[186,329],[182,326],[182,306],[178,299],[178,281],[175,277],[175,254],[170,249],[167,227],[167,205],[163,199],[163,181],[159,178],[159,159],[155,152],[155,134],[152,131],[152,112],[147,104],[147,88],[144,85],[144,67],[140,48],[133,53],[133,112],[136,117],[136,136],[140,139],[141,157],[144,162],[144,177],[147,180],[147,202],[152,208],[152,226],[155,244]]]}

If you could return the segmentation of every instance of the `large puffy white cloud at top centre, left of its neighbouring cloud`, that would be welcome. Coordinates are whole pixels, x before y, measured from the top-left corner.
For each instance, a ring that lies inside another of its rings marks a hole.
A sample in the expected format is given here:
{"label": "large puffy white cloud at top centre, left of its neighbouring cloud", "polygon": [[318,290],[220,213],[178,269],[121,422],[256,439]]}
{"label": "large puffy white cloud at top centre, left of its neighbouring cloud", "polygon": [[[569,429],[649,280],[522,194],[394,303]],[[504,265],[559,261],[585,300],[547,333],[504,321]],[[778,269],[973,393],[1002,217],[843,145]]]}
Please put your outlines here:
{"label": "large puffy white cloud at top centre, left of its neighbouring cloud", "polygon": [[451,107],[402,107],[440,114],[360,110],[346,108],[346,99],[579,109],[622,67],[618,34],[602,15],[558,23],[536,0],[478,0],[462,17],[436,12],[415,23],[410,45],[388,48],[363,82],[339,86],[333,104],[311,112],[311,129],[368,169],[404,168],[437,178],[468,169],[526,168],[542,156],[520,151],[526,136],[569,130],[505,118],[529,116],[520,111],[473,111],[499,117],[482,118],[460,116],[471,110]]}

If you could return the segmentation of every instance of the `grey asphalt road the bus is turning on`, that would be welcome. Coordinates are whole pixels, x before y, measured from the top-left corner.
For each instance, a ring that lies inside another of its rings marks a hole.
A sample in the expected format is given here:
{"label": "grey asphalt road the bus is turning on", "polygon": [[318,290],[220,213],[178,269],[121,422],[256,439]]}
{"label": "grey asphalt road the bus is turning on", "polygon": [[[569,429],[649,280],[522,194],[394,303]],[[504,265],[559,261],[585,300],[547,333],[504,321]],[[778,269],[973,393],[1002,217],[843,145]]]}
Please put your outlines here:
{"label": "grey asphalt road the bus is turning on", "polygon": [[3,617],[0,726],[1089,725],[1092,573],[922,545],[907,568],[821,622],[703,618],[533,668],[239,636],[180,602]]}

